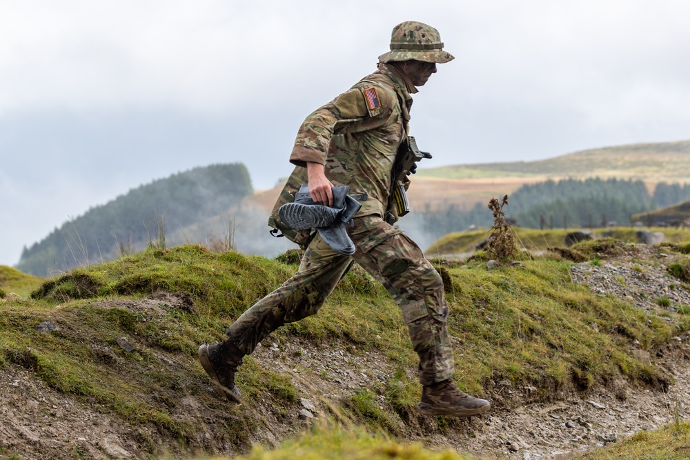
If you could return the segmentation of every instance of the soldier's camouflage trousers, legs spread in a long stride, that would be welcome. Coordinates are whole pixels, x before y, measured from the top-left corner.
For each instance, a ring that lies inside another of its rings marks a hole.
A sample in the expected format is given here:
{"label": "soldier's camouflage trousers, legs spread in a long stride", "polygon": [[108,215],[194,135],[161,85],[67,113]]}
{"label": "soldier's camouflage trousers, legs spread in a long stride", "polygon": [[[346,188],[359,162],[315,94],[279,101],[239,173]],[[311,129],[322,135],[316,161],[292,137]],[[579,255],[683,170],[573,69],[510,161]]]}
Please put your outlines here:
{"label": "soldier's camouflage trousers, legs spread in a long stride", "polygon": [[422,385],[453,377],[453,354],[446,330],[449,308],[440,275],[402,230],[377,215],[354,221],[348,234],[357,248],[355,254],[338,254],[317,234],[297,273],[246,310],[228,328],[228,338],[239,350],[251,354],[273,330],[316,314],[355,261],[386,287],[402,310],[420,357]]}

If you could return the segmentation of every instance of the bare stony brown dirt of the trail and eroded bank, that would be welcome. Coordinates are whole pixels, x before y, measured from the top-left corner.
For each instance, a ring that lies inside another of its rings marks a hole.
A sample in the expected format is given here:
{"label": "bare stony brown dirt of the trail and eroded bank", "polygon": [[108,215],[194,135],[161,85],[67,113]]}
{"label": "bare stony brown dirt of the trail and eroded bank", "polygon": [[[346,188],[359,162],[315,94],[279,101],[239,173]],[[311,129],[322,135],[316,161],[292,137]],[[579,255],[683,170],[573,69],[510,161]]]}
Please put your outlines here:
{"label": "bare stony brown dirt of the trail and eroded bank", "polygon": [[[655,257],[649,252],[647,257]],[[574,277],[584,277],[600,294],[617,294],[620,283],[611,276],[595,276],[615,271],[638,276],[638,270],[624,270],[629,259],[602,261],[598,270],[573,268]],[[645,266],[646,274],[657,281],[665,279],[663,266]],[[576,274],[579,273],[579,274]],[[626,279],[627,294],[640,297],[640,290],[658,292],[660,286],[647,281],[637,284]],[[639,281],[639,280],[638,280]],[[144,301],[146,302],[146,301]],[[643,306],[644,308],[644,306]],[[650,307],[651,308],[651,307]],[[662,366],[675,380],[668,393],[650,388],[632,388],[625,381],[614,382],[588,394],[569,392],[554,395],[553,401],[538,402],[534,388],[515,388],[508,382],[492,382],[487,397],[495,407],[471,419],[451,419],[438,426],[433,417],[391,417],[402,438],[431,448],[453,448],[484,458],[541,460],[565,459],[580,450],[602,446],[640,430],[653,430],[673,423],[676,410],[687,419],[690,408],[690,336],[675,337],[667,346],[635,350],[641,359]],[[384,386],[393,368],[376,350],[357,350],[348,344],[318,348],[303,339],[277,343],[265,341],[252,355],[259,366],[289,375],[300,392],[301,403],[278,416],[270,401],[259,401],[250,408],[259,424],[253,442],[277,445],[284,437],[299,432],[322,417],[332,403],[357,390]],[[194,366],[195,363],[186,363]],[[411,370],[410,372],[413,372]],[[413,375],[410,376],[414,378]],[[173,415],[193,423],[204,423],[206,430],[188,440],[192,452],[231,455],[232,440],[223,434],[223,424],[237,417],[239,410],[215,398],[208,384],[205,394],[181,394]],[[382,408],[388,407],[378,397]],[[676,401],[678,401],[676,403]],[[242,446],[246,450],[249,446]],[[177,455],[185,450],[170,434],[151,428],[142,430],[108,414],[98,404],[82,403],[70,395],[48,388],[23,368],[0,369],[0,452],[17,452],[26,459],[127,459],[148,458],[147,449]]]}

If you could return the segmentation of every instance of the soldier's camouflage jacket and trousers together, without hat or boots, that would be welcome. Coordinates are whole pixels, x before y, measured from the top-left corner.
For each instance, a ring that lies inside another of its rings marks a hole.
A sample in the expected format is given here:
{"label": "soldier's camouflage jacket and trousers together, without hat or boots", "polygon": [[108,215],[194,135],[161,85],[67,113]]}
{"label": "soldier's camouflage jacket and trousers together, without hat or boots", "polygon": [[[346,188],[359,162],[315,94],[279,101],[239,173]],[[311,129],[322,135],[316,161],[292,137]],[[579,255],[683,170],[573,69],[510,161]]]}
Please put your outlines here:
{"label": "soldier's camouflage jacket and trousers together, without hat or boots", "polygon": [[[276,209],[292,201],[299,184],[306,182],[306,162],[323,164],[334,186],[348,185],[352,194],[367,194],[354,226],[348,228],[357,250],[344,256],[314,232],[297,234],[295,240],[306,246],[297,273],[228,328],[229,341],[242,353],[253,352],[279,326],[318,312],[356,261],[383,283],[400,306],[420,357],[421,383],[430,385],[453,376],[446,331],[449,308],[441,277],[414,241],[384,221],[390,210],[393,163],[407,136],[411,103],[405,82],[381,63],[377,72],[313,112],[299,128],[290,156],[297,167]],[[270,222],[275,221],[274,212]]]}

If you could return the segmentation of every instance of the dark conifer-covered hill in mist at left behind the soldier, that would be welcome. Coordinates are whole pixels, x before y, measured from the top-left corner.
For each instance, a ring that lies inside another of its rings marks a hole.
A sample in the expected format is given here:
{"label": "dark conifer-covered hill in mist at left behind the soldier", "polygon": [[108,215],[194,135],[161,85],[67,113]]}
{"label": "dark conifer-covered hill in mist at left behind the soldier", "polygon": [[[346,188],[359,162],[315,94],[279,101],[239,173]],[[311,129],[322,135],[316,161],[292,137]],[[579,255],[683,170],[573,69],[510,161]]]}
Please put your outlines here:
{"label": "dark conifer-covered hill in mist at left behind the soldier", "polygon": [[168,246],[184,243],[183,238],[172,238],[175,232],[226,212],[252,192],[248,171],[241,163],[173,174],[64,223],[42,241],[24,248],[16,268],[46,276],[115,259],[156,241],[161,224]]}

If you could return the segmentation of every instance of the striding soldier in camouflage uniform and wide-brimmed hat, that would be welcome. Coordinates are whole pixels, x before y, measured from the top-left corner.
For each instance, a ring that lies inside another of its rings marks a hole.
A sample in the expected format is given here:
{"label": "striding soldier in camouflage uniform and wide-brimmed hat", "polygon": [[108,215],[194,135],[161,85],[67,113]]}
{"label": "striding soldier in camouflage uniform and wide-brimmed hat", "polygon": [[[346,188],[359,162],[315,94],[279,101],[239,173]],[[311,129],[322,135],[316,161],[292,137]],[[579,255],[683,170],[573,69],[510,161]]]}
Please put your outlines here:
{"label": "striding soldier in camouflage uniform and wide-brimmed hat", "polygon": [[288,232],[276,211],[293,201],[301,183],[308,183],[311,199],[323,206],[333,206],[333,186],[349,186],[351,192],[366,196],[353,226],[347,228],[355,252],[335,252],[313,230],[288,234],[306,248],[297,273],[246,310],[228,328],[228,339],[199,347],[199,360],[219,394],[239,403],[235,372],[242,358],[279,326],[316,314],[356,261],[386,287],[402,310],[420,358],[422,401],[417,410],[455,417],[489,410],[489,401],[471,397],[453,383],[446,330],[449,308],[441,277],[417,244],[392,225],[397,220],[391,206],[393,166],[408,137],[410,94],[424,86],[437,63],[451,59],[435,28],[401,23],[393,28],[391,50],[379,57],[377,71],[317,109],[299,128],[290,155],[295,170],[269,225]]}

